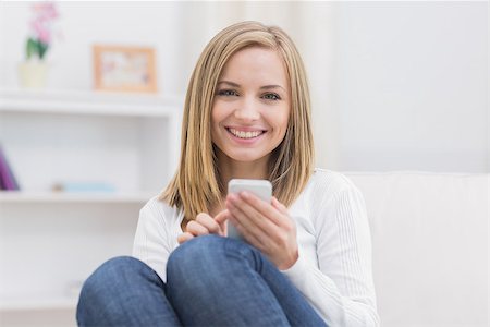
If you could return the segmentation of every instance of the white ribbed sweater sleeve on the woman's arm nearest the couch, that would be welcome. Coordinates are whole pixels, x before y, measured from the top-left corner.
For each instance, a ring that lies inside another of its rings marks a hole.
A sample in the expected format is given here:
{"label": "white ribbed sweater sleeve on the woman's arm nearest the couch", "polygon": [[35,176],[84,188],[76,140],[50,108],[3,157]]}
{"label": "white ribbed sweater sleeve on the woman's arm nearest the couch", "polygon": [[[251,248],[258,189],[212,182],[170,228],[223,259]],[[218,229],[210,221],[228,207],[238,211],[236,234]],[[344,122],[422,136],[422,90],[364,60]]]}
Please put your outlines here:
{"label": "white ribbed sweater sleeve on the woman's arm nearest the couch", "polygon": [[317,207],[316,263],[302,256],[283,272],[329,326],[379,326],[371,240],[360,192],[348,184]]}

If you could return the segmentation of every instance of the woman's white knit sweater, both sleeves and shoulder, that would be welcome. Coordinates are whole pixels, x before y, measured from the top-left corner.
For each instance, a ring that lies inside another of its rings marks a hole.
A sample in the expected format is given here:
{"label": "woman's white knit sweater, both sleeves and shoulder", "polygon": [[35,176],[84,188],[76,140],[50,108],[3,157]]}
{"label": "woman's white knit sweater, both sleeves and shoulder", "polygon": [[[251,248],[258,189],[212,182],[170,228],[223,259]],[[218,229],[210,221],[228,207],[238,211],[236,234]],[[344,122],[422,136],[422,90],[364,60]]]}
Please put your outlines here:
{"label": "woman's white knit sweater, both sleeves and shoulder", "polygon": [[[283,274],[329,326],[379,326],[360,192],[341,173],[316,169],[289,211],[296,222],[299,258]],[[157,197],[139,214],[133,255],[163,281],[167,259],[179,246],[182,219],[182,210]]]}

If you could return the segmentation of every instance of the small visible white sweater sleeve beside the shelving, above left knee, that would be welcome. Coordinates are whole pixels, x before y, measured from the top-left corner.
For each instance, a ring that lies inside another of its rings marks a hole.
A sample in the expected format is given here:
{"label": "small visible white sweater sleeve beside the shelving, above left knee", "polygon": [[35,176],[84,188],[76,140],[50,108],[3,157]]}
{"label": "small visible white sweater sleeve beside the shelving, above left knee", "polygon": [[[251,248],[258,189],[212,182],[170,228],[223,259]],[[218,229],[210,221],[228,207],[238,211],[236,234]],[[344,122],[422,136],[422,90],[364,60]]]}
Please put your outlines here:
{"label": "small visible white sweater sleeve beside the shelving, above left knee", "polygon": [[133,244],[133,256],[150,266],[163,281],[167,281],[167,261],[172,252],[167,227],[169,218],[162,205],[150,199],[139,210]]}

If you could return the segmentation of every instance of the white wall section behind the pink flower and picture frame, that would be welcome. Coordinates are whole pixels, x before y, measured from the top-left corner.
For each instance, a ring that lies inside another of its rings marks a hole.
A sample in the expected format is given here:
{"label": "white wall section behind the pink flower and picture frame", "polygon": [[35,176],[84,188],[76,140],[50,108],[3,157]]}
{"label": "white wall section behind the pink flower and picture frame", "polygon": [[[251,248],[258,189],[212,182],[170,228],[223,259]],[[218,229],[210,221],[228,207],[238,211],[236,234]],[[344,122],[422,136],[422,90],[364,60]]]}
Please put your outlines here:
{"label": "white wall section behind the pink flower and picture frame", "polygon": [[[5,74],[0,83],[17,85],[15,65],[23,60],[24,43],[30,17],[28,2],[4,2],[0,31],[5,47],[1,66]],[[61,2],[56,23],[61,37],[56,37],[48,52],[51,64],[49,87],[91,89],[91,45],[150,46],[157,51],[160,92],[175,93],[182,88],[179,65],[176,7],[172,3],[140,2]],[[3,27],[2,26],[2,27]],[[177,77],[176,82],[174,77]]]}

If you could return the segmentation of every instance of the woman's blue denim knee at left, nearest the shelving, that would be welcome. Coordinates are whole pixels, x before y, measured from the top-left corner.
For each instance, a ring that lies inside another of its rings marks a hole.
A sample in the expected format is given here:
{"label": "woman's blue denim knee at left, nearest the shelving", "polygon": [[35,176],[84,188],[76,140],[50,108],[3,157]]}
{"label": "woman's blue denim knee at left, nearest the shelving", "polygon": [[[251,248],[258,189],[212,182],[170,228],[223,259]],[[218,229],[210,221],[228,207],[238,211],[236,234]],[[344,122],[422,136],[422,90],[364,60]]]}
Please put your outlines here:
{"label": "woman's blue denim knee at left, nearest the shelving", "polygon": [[107,261],[85,281],[76,319],[79,326],[180,325],[157,272],[128,256]]}

